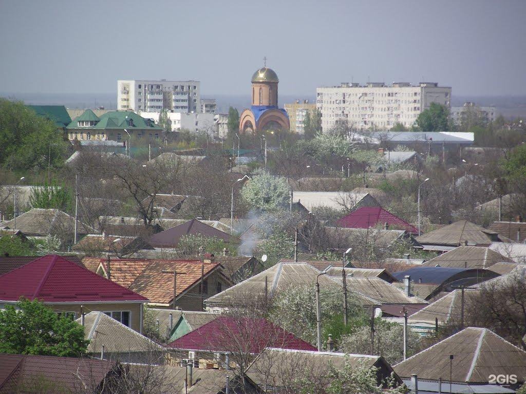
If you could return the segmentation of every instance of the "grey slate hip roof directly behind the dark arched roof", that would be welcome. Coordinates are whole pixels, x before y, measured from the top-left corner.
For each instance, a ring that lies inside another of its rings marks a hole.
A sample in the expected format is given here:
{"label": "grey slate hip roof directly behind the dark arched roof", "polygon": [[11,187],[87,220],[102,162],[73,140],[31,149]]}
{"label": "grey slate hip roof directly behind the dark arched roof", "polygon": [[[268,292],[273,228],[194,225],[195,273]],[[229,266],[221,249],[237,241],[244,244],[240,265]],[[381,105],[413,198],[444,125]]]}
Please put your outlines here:
{"label": "grey slate hip roof directly behind the dark arched roof", "polygon": [[422,264],[422,266],[450,268],[488,268],[495,263],[511,262],[498,252],[485,246],[459,246]]}

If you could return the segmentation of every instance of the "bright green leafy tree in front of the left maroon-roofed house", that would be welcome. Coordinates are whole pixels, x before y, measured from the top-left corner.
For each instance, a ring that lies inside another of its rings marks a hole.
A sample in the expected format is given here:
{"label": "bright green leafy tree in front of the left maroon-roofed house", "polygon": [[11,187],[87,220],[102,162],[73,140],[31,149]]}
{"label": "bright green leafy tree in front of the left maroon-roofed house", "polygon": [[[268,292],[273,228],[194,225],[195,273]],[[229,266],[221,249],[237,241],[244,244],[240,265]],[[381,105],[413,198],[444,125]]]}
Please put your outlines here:
{"label": "bright green leafy tree in front of the left maroon-roofed house", "polygon": [[38,300],[0,310],[0,353],[74,357],[87,346],[82,326]]}

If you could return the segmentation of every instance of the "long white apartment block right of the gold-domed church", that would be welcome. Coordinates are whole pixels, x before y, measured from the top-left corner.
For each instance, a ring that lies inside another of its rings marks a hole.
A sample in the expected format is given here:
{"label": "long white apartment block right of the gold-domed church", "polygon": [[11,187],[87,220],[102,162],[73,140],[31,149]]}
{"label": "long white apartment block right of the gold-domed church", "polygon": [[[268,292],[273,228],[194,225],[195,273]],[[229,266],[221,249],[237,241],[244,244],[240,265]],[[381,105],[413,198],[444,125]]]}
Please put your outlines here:
{"label": "long white apartment block right of the gold-domed church", "polygon": [[385,85],[342,83],[340,86],[316,89],[316,107],[321,112],[323,131],[345,122],[358,130],[390,129],[397,123],[409,127],[432,102],[451,106],[451,88],[436,82],[394,82]]}

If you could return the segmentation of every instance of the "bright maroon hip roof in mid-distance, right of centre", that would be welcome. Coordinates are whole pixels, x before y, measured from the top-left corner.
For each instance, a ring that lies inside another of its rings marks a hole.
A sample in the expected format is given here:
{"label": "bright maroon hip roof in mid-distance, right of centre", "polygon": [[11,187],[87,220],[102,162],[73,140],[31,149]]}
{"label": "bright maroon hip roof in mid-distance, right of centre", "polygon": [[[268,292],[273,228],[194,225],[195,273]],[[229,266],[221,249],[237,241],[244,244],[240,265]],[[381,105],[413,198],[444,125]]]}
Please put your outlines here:
{"label": "bright maroon hip roof in mid-distance, right of centre", "polygon": [[395,227],[396,230],[406,230],[409,233],[418,234],[415,226],[386,211],[381,206],[363,206],[347,216],[343,216],[338,220],[337,225],[349,229],[368,229],[377,224],[383,225],[385,223],[390,227]]}

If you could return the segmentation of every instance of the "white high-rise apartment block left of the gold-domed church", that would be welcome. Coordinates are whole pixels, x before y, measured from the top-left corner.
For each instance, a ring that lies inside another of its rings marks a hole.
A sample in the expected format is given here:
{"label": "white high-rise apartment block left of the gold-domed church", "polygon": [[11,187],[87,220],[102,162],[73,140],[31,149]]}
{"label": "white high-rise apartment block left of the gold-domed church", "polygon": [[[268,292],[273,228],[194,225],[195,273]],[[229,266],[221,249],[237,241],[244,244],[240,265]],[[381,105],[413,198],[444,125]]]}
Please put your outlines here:
{"label": "white high-rise apartment block left of the gold-domed church", "polygon": [[200,112],[199,81],[118,80],[117,109],[125,111]]}

